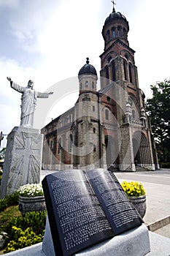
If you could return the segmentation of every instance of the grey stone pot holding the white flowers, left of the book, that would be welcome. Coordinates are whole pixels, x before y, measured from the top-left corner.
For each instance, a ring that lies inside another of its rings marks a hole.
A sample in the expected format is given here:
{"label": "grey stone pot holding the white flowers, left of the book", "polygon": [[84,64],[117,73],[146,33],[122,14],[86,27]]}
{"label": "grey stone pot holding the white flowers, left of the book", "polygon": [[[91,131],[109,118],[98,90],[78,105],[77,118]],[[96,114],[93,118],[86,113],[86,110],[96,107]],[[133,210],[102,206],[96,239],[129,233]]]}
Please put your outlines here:
{"label": "grey stone pot holding the white flowers, left of the book", "polygon": [[19,196],[19,210],[22,214],[28,211],[45,211],[45,197],[22,197]]}

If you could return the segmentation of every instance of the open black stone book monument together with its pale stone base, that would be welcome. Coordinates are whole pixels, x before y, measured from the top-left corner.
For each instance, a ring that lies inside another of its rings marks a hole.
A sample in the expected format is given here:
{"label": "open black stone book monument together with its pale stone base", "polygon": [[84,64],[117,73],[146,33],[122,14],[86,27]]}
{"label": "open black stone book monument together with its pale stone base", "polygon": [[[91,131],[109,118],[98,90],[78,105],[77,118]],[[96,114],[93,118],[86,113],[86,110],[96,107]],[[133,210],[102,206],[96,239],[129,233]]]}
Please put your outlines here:
{"label": "open black stone book monument together with its pale stone base", "polygon": [[114,173],[63,170],[42,180],[47,222],[42,252],[62,256],[144,256],[147,227]]}

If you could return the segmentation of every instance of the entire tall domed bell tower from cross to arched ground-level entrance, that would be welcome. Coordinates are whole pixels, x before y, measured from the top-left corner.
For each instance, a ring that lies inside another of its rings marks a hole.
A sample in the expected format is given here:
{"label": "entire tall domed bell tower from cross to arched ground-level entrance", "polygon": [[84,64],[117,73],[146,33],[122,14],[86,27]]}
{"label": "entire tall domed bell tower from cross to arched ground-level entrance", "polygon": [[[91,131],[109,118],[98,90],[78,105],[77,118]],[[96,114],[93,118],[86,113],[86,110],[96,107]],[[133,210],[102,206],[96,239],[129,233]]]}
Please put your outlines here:
{"label": "entire tall domed bell tower from cross to arched ground-level entrance", "polygon": [[[119,136],[120,170],[136,170],[136,166],[154,169],[150,127],[144,110],[144,93],[139,89],[135,51],[128,42],[128,20],[115,11],[104,22],[102,36],[104,52],[101,54],[101,90],[112,86],[116,106],[115,118]],[[142,141],[146,142],[147,158],[144,156]],[[137,146],[136,146],[137,145]],[[140,153],[139,153],[140,151]]]}

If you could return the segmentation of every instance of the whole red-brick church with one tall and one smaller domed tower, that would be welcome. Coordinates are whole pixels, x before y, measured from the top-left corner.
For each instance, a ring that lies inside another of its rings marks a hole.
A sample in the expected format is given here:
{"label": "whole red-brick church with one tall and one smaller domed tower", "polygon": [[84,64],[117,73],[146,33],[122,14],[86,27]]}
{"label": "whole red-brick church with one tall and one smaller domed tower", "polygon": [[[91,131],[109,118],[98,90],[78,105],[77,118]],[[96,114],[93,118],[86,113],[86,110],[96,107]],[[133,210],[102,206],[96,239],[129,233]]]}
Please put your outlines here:
{"label": "whole red-brick church with one tall and one smaller domed tower", "polygon": [[74,107],[42,129],[43,168],[159,168],[128,30],[125,16],[113,7],[102,29],[101,89],[96,91],[97,72],[87,58]]}

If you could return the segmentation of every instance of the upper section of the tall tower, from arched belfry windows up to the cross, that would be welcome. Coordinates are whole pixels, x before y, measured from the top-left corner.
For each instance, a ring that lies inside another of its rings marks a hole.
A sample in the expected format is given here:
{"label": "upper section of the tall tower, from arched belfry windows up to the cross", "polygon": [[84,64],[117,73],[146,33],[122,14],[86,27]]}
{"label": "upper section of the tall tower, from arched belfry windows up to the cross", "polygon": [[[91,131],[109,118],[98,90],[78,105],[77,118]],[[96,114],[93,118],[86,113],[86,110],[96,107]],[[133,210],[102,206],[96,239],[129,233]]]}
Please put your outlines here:
{"label": "upper section of the tall tower, from arched belfry windows up to the cross", "polygon": [[[115,5],[114,1],[113,4]],[[137,69],[134,61],[135,51],[128,43],[128,21],[120,12],[115,11],[105,20],[102,36],[104,53],[101,54],[101,77],[112,81],[122,80],[133,89],[138,87]],[[103,88],[107,81],[102,83]]]}

